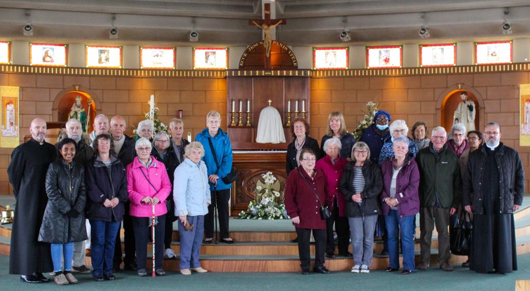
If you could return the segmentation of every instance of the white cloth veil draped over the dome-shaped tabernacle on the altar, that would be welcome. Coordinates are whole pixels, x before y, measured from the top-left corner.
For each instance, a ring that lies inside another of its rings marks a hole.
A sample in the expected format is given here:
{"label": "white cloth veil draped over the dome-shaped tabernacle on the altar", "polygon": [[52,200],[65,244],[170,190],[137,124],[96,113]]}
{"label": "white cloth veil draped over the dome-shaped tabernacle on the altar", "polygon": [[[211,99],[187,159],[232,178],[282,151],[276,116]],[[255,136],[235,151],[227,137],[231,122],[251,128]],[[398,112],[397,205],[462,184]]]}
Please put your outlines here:
{"label": "white cloth veil draped over the dome-shaped tabernacle on the altar", "polygon": [[261,110],[256,142],[260,144],[285,143],[284,126],[276,108],[269,106]]}

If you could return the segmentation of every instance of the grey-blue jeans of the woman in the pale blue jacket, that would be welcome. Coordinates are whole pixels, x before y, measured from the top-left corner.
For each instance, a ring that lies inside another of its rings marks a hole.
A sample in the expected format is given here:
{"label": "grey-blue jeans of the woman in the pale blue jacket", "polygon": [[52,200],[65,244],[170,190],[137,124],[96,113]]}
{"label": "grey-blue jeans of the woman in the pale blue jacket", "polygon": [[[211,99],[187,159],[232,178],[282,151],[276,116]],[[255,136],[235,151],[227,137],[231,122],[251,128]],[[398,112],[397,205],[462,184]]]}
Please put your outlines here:
{"label": "grey-blue jeans of the woman in the pale blue jacket", "polygon": [[181,270],[200,268],[199,256],[202,236],[204,235],[204,215],[187,216],[188,223],[193,224],[191,231],[184,230],[184,224],[179,219],[180,234],[180,262]]}

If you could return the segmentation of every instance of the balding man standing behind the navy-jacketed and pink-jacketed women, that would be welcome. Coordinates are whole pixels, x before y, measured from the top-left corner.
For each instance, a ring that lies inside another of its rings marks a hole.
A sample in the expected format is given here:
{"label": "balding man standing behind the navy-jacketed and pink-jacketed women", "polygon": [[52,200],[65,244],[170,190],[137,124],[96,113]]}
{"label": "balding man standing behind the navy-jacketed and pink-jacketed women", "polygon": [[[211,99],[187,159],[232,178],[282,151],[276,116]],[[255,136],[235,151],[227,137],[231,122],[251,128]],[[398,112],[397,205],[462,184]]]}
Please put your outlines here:
{"label": "balding man standing behind the navy-jacketed and pink-jacketed women", "polygon": [[[132,163],[136,156],[135,144],[136,140],[125,135],[127,124],[125,118],[117,115],[110,120],[110,130],[112,139],[114,140],[114,151],[118,155],[121,163],[127,167]],[[125,258],[123,269],[136,271],[136,242],[133,231],[133,218],[129,215],[129,201],[125,202],[125,214],[123,214],[123,230],[125,231]],[[114,246],[114,267],[112,272],[120,269],[121,264],[121,239],[120,232],[116,236],[116,245]]]}

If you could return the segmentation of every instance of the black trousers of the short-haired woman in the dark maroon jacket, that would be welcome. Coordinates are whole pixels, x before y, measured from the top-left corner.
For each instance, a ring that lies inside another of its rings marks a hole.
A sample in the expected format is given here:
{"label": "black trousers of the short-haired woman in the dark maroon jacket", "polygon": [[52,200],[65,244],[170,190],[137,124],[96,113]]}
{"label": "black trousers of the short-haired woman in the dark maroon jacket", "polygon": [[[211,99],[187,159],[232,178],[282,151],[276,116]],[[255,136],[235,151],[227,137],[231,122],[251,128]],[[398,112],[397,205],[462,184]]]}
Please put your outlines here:
{"label": "black trousers of the short-haired woman in the dark maroon jacket", "polygon": [[[298,235],[298,254],[300,255],[300,267],[309,268],[311,264],[311,238],[310,228],[296,228]],[[324,249],[326,246],[326,230],[313,230],[315,238],[315,268],[324,266]]]}

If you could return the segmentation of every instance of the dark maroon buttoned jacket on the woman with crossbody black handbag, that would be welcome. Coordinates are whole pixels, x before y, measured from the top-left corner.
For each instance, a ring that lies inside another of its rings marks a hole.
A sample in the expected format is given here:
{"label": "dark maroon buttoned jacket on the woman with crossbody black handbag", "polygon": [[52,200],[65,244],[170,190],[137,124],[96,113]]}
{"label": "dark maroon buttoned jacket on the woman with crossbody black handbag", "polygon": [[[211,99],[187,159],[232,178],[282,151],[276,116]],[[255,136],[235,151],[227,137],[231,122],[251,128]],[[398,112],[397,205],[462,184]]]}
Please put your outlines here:
{"label": "dark maroon buttoned jacket on the woman with crossbody black handbag", "polygon": [[285,209],[291,218],[300,217],[300,224],[296,227],[325,230],[326,221],[320,218],[320,204],[313,190],[319,195],[322,204],[331,205],[331,196],[326,191],[325,175],[317,169],[315,172],[313,180],[302,167],[289,173],[285,187]]}

